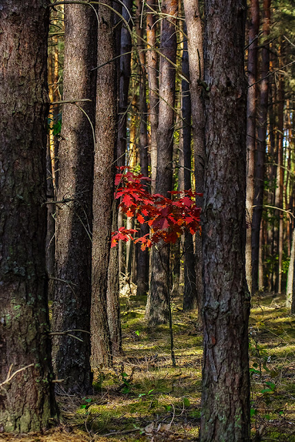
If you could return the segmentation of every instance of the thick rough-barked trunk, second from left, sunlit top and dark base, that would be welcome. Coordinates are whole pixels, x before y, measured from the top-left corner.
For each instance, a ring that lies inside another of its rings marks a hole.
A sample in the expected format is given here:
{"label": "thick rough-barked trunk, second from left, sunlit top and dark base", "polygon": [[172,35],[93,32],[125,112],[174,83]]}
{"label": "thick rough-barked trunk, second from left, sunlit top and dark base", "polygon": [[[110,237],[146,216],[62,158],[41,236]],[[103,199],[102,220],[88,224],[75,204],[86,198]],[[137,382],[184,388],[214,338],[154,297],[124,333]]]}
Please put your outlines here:
{"label": "thick rough-barked trunk, second from left, sunlit top and dark base", "polygon": [[[96,17],[91,8],[65,5],[65,68],[63,99],[78,102],[94,123],[96,71]],[[64,379],[69,394],[92,390],[90,368],[91,235],[94,140],[88,118],[74,104],[63,105],[59,144],[56,271],[54,280],[53,332],[72,332],[83,339],[55,336],[52,347],[54,371]]]}

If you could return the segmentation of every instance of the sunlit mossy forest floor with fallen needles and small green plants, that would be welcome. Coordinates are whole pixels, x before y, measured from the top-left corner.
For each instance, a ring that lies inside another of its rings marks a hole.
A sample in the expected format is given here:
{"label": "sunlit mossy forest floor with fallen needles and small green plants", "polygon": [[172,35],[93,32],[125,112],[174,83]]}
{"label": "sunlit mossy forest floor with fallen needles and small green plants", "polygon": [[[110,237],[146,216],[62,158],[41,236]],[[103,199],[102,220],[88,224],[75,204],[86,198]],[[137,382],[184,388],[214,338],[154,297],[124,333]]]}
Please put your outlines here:
{"label": "sunlit mossy forest floor with fallen needles and small green plants", "polygon": [[[45,434],[0,435],[19,442],[197,441],[201,414],[202,336],[196,315],[174,300],[172,367],[167,326],[149,329],[145,298],[121,297],[125,356],[102,369],[95,394],[57,399],[61,425]],[[283,296],[252,299],[250,375],[253,441],[295,442],[295,320]],[[229,374],[230,376],[230,374]]]}

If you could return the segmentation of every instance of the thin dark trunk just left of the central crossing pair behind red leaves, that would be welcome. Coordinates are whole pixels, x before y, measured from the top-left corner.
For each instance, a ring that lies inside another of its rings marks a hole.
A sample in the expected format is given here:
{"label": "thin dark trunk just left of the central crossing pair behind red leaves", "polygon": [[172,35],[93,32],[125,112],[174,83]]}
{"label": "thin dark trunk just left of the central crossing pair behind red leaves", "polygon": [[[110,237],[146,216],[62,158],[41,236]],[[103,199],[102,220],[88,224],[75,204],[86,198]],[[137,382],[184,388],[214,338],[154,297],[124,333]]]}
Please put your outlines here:
{"label": "thin dark trunk just left of the central crossing pair behind red leaves", "polygon": [[[140,83],[139,83],[139,109],[140,109],[140,126],[139,126],[139,154],[141,173],[148,176],[148,105],[146,100],[146,73],[145,73],[145,52],[143,45],[143,28],[141,27],[141,8],[142,1],[136,3],[136,34],[138,36],[137,47],[139,49],[140,66]],[[141,224],[140,235],[148,233],[150,228],[148,224]],[[149,253],[148,250],[142,251],[137,244],[137,294],[145,295],[148,292],[148,270],[149,270]]]}

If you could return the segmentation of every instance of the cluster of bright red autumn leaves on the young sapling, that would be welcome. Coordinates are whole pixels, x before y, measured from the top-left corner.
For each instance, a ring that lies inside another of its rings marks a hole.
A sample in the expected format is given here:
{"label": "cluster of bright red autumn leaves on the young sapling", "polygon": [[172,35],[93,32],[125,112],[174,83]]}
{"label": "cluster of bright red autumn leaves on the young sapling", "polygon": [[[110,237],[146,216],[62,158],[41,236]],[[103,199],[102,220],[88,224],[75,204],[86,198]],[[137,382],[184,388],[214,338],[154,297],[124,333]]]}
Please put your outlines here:
{"label": "cluster of bright red autumn leaves on the young sapling", "polygon": [[136,175],[129,170],[124,173],[125,167],[120,169],[122,173],[117,173],[115,180],[115,198],[121,198],[119,208],[128,217],[135,216],[140,224],[148,224],[150,233],[134,238],[133,235],[138,233],[137,229],[120,227],[119,231],[112,232],[112,247],[119,240],[134,240],[135,243],[141,242],[141,250],[145,250],[161,240],[174,243],[185,231],[190,231],[193,235],[201,229],[201,209],[196,207],[193,200],[196,193],[191,190],[170,192],[175,197],[177,195],[176,200],[166,198],[160,193],[152,195],[145,184],[150,178]]}

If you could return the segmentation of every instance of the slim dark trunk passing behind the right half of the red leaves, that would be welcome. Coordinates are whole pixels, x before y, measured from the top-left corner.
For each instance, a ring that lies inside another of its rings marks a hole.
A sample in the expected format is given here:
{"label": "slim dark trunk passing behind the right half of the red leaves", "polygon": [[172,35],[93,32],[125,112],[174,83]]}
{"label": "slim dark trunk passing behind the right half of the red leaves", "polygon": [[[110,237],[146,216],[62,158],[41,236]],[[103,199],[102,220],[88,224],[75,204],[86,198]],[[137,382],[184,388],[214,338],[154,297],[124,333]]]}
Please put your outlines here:
{"label": "slim dark trunk passing behind the right half of the red leaves", "polygon": [[[187,29],[183,23],[183,32]],[[187,52],[187,39],[183,41],[183,59],[182,72],[187,78],[190,78],[189,59]],[[191,131],[191,100],[190,85],[184,79],[181,81],[181,116],[183,117],[183,128],[181,130],[182,148],[183,148],[183,189],[192,188],[191,169],[192,169],[192,131]],[[194,242],[190,232],[185,233],[184,240],[184,291],[183,291],[183,309],[192,310],[198,307],[196,291],[196,270],[194,262]]]}

